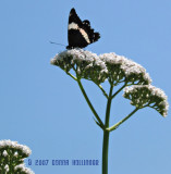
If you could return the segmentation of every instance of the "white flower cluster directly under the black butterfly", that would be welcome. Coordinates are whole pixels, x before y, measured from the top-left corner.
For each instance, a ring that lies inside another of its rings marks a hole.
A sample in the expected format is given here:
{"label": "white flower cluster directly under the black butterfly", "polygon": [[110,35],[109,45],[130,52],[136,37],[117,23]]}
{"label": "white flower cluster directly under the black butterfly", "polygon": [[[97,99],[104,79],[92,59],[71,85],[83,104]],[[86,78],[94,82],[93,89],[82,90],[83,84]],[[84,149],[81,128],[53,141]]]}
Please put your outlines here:
{"label": "white flower cluster directly under the black butterfly", "polygon": [[57,54],[51,64],[60,66],[66,73],[74,70],[76,76],[100,84],[106,79],[107,67],[96,53],[83,49],[71,49]]}

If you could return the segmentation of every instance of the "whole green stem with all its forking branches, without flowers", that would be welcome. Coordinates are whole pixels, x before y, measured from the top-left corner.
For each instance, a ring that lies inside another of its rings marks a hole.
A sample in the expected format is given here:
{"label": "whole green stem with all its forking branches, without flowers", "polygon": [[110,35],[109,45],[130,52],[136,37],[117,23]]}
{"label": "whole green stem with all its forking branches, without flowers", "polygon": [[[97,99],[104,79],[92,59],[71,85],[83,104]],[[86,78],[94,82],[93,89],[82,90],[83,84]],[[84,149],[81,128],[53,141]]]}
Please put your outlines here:
{"label": "whole green stem with all its forking branches, without flowers", "polygon": [[[75,73],[76,70],[74,69]],[[124,123],[129,117],[131,117],[137,110],[138,108],[135,108],[135,110],[133,110],[127,116],[125,116],[123,120],[121,120],[120,122],[118,122],[117,124],[114,124],[113,126],[109,127],[109,120],[110,120],[110,110],[111,110],[111,102],[112,99],[125,87],[129,86],[127,83],[125,83],[118,91],[115,91],[112,95],[113,91],[113,83],[110,83],[110,91],[109,95],[107,95],[107,92],[105,91],[105,89],[102,88],[101,85],[96,84],[100,90],[102,91],[102,94],[105,95],[105,97],[108,99],[107,102],[107,109],[106,109],[106,121],[105,124],[102,123],[101,119],[99,117],[99,115],[97,114],[95,108],[93,107],[89,98],[87,97],[87,94],[81,83],[81,77],[78,76],[78,74],[76,73],[76,77],[73,76],[72,74],[70,74],[69,72],[66,72],[68,75],[70,75],[74,80],[77,82],[81,91],[87,102],[87,104],[89,105],[91,112],[94,113],[95,117],[94,121],[96,122],[96,124],[103,129],[103,144],[102,144],[102,174],[108,174],[108,149],[109,149],[109,135],[110,132],[117,129],[122,123]]]}

